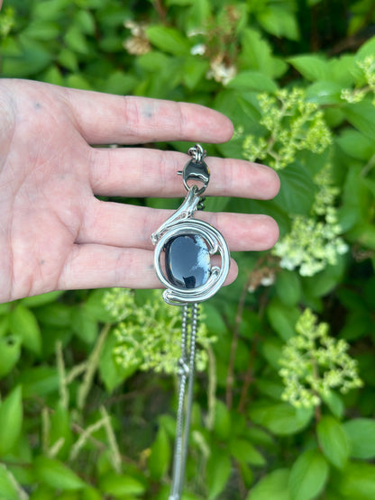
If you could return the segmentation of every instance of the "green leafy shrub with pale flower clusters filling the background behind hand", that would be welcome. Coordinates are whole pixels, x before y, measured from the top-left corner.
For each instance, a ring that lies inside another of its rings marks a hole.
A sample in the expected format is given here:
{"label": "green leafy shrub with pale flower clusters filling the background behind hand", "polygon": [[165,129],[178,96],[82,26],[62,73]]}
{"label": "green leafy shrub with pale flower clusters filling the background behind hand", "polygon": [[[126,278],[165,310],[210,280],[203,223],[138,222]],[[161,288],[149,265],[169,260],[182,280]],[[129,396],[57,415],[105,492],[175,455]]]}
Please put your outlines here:
{"label": "green leafy shrub with pale flower clusters filling the background behind hand", "polygon": [[[5,0],[2,77],[212,106],[236,132],[209,154],[278,169],[271,202],[206,201],[281,236],[205,305],[186,500],[375,495],[374,23],[367,0]],[[167,499],[170,334],[154,292],[0,305],[0,498]]]}

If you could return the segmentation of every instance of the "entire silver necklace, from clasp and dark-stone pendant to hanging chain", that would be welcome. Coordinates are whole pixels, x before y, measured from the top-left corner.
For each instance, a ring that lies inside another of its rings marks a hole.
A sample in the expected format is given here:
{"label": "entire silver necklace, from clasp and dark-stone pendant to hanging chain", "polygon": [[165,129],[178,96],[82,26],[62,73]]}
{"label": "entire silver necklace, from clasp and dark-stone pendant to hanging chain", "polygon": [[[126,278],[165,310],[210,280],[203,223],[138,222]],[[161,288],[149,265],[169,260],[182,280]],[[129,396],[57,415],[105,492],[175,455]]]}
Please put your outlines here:
{"label": "entire silver necklace, from clasp and dark-stone pendant to hanging chain", "polygon": [[[170,305],[182,306],[178,414],[169,500],[180,499],[185,476],[193,401],[198,303],[215,295],[224,284],[230,266],[230,254],[223,235],[211,224],[194,218],[196,210],[203,209],[201,196],[210,179],[205,162],[206,151],[196,144],[188,150],[188,155],[192,158],[182,171],[178,171],[188,195],[178,210],[151,236],[151,241],[156,245],[156,273],[166,287],[163,299]],[[211,266],[211,256],[215,254],[220,255],[220,267]]]}

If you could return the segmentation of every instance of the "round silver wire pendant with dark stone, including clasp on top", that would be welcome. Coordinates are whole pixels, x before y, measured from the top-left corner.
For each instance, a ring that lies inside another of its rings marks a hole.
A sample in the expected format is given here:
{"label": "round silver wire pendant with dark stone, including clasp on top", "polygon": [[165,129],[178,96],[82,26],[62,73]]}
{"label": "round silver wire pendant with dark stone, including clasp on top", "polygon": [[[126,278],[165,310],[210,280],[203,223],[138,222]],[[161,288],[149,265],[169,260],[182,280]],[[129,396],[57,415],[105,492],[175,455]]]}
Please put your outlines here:
{"label": "round silver wire pendant with dark stone, including clasp on top", "polygon": [[[200,145],[189,151],[193,151],[190,154],[194,157],[182,172],[188,195],[175,214],[151,236],[156,245],[155,270],[166,287],[163,298],[171,305],[202,302],[215,295],[230,266],[230,253],[221,232],[193,218],[208,185],[209,170]],[[201,183],[203,186],[198,186]],[[216,254],[220,256],[220,266],[211,264],[211,257]]]}

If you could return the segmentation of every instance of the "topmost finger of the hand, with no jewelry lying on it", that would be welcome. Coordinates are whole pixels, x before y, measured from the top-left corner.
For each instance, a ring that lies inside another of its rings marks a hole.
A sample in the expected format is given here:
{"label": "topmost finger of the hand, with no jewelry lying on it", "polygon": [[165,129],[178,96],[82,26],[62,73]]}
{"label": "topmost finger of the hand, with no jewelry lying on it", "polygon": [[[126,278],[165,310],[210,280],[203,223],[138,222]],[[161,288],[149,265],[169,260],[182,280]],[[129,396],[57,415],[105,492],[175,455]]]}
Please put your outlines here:
{"label": "topmost finger of the hand, with no jewelry lying on it", "polygon": [[91,144],[224,142],[233,134],[231,121],[205,106],[133,95],[64,90],[78,129]]}

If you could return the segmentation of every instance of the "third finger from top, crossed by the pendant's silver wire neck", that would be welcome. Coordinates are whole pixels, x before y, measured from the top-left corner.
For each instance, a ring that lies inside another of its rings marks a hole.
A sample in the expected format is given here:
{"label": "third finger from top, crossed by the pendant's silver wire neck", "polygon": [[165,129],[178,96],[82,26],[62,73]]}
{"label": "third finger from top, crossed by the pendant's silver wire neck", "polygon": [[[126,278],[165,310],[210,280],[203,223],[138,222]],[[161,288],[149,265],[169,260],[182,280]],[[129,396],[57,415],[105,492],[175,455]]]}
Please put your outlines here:
{"label": "third finger from top, crossed by the pendant's silver wire neck", "polygon": [[[151,234],[173,212],[135,205],[95,202],[88,208],[77,242],[151,250]],[[230,250],[268,250],[279,237],[268,215],[197,213],[223,233]]]}

